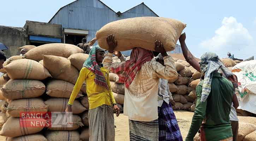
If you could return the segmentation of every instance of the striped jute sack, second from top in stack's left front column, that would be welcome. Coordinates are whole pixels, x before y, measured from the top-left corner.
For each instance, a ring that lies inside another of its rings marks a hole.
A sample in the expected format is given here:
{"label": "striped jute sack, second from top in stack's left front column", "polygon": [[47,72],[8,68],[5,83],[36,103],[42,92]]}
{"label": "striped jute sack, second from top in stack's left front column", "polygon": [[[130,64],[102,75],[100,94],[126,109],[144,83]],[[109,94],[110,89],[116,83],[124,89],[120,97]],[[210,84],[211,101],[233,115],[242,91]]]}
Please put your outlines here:
{"label": "striped jute sack, second from top in stack's left front column", "polygon": [[1,91],[6,99],[34,98],[45,92],[45,86],[38,80],[17,79],[8,81]]}

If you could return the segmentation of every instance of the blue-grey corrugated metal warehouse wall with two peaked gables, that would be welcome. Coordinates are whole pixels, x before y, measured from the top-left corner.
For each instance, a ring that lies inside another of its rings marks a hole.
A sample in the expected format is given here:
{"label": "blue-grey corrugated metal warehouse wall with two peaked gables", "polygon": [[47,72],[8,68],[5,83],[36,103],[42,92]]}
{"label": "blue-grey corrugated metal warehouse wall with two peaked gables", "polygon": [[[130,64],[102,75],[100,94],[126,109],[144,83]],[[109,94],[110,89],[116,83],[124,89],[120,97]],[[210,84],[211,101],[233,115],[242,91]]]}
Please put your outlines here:
{"label": "blue-grey corrugated metal warehouse wall with two peaked gables", "polygon": [[[87,40],[95,37],[97,30],[107,23],[132,18],[132,17],[157,17],[144,4],[140,4],[124,12],[118,17],[117,13],[112,11],[99,0],[77,0],[60,9],[58,13],[50,20],[50,23],[61,24],[62,28],[89,30]],[[122,52],[129,56],[131,51]]]}

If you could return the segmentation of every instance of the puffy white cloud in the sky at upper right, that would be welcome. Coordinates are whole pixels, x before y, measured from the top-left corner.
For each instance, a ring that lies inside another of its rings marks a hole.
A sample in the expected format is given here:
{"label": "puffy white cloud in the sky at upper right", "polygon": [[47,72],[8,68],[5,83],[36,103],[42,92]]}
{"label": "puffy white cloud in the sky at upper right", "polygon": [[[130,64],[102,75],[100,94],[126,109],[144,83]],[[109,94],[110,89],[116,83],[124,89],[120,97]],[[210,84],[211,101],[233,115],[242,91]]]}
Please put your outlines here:
{"label": "puffy white cloud in the sky at upper right", "polygon": [[[256,19],[255,19],[256,22]],[[221,53],[230,51],[239,53],[244,48],[252,48],[252,36],[248,30],[243,27],[242,23],[238,23],[234,17],[225,17],[222,20],[222,26],[215,31],[215,35],[211,39],[207,39],[200,43],[201,47],[209,51]]]}

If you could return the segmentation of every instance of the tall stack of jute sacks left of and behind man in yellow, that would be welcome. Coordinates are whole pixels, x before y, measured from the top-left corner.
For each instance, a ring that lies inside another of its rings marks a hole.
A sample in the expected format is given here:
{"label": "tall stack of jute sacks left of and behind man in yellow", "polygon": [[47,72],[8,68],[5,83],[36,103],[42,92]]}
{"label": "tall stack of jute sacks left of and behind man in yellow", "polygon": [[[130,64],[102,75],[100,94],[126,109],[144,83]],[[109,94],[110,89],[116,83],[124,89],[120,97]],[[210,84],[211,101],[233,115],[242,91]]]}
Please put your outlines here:
{"label": "tall stack of jute sacks left of and behind man in yellow", "polygon": [[[84,83],[73,103],[73,127],[25,127],[24,112],[63,112],[89,55],[71,44],[45,44],[25,57],[12,56],[0,72],[0,135],[14,140],[88,140],[88,97]],[[41,121],[44,119],[40,119]],[[23,127],[22,127],[23,126]]]}

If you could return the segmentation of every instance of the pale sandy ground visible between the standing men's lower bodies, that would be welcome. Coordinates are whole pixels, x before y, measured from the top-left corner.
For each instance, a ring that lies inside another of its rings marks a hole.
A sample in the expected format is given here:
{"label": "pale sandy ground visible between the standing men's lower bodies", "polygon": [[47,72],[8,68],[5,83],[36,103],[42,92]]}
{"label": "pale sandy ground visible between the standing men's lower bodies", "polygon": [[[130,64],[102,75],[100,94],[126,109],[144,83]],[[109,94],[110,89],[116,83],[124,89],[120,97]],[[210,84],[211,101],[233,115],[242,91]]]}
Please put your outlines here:
{"label": "pale sandy ground visible between the standing men's lower bodies", "polygon": [[[189,131],[194,112],[174,111],[183,140]],[[129,122],[127,116],[120,114],[115,117],[115,141],[129,141]]]}

